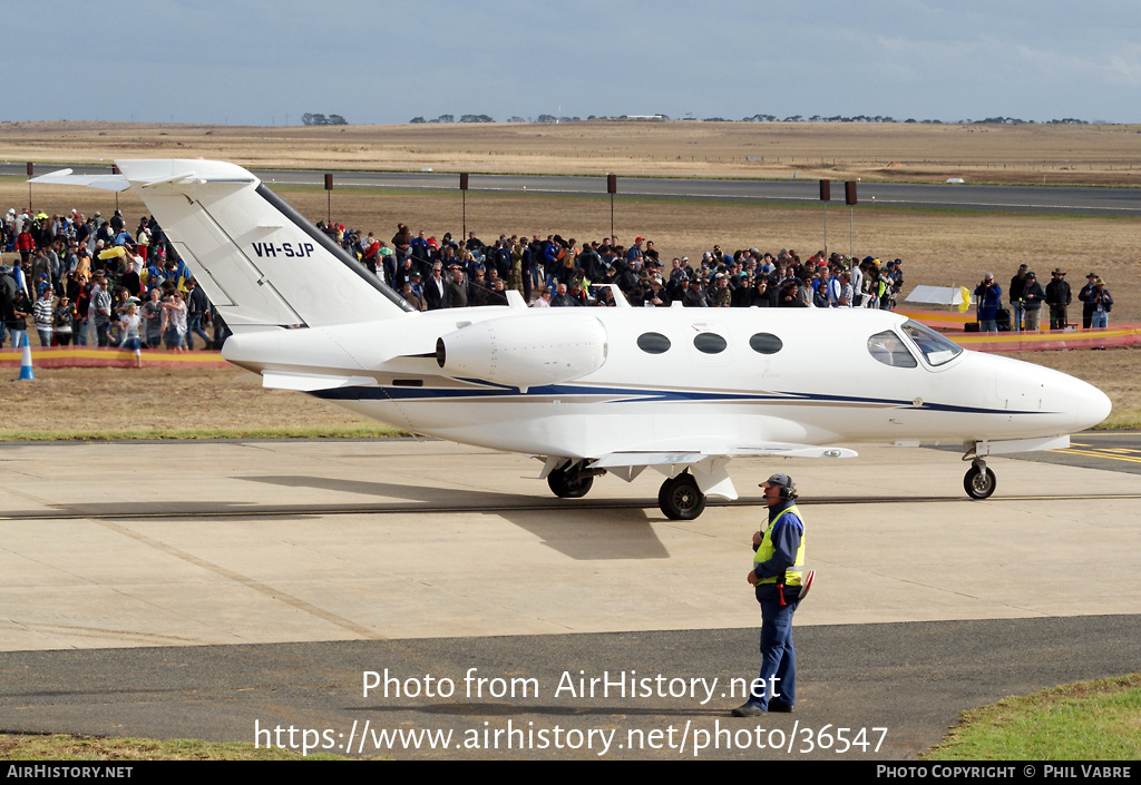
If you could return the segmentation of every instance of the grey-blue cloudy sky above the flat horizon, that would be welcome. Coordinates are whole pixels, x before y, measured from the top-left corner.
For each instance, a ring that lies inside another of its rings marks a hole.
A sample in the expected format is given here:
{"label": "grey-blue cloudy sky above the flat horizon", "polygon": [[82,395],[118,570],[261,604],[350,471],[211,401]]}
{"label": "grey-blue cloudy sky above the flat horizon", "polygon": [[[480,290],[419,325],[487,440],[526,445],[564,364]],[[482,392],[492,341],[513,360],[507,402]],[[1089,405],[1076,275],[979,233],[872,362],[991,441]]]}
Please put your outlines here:
{"label": "grey-blue cloudy sky above the flat horizon", "polygon": [[1141,122],[1136,0],[26,8],[0,23],[2,120],[281,126],[313,112],[351,123],[652,113]]}

